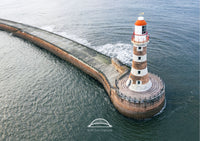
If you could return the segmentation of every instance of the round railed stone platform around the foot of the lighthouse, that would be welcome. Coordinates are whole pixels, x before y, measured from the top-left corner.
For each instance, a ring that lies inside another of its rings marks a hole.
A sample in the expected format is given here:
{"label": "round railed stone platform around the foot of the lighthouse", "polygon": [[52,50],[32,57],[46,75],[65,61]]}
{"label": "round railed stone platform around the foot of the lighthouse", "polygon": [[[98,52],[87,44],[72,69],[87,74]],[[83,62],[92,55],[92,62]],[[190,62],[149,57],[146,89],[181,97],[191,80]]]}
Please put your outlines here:
{"label": "round railed stone platform around the foot of the lighthouse", "polygon": [[158,113],[165,103],[165,85],[160,77],[149,73],[152,87],[144,92],[135,92],[126,86],[129,73],[116,81],[117,96],[114,105],[124,115],[135,118],[150,118]]}

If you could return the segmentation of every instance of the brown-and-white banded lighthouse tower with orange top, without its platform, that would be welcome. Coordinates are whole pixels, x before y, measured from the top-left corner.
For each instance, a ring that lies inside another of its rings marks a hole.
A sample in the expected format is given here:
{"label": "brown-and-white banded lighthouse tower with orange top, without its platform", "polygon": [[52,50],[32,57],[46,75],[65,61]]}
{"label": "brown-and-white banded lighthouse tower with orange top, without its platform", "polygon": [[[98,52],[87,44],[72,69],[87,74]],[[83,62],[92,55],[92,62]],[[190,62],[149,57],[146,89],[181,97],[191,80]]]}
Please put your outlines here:
{"label": "brown-and-white banded lighthouse tower with orange top, without its platform", "polygon": [[131,42],[133,43],[133,60],[126,86],[132,91],[146,91],[151,88],[152,82],[149,79],[147,68],[149,34],[147,32],[147,23],[142,16],[138,17],[135,22],[135,30]]}

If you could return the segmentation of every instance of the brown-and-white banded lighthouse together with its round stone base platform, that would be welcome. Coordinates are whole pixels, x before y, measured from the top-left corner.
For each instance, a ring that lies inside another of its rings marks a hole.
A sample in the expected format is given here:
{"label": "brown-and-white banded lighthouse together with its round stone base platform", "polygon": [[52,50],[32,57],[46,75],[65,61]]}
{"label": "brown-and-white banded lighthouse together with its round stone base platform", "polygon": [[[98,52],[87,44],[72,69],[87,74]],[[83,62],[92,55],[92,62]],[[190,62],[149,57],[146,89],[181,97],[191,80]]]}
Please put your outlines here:
{"label": "brown-and-white banded lighthouse together with its round stone base platform", "polygon": [[132,66],[116,80],[117,96],[113,96],[113,101],[124,115],[145,119],[153,117],[165,107],[165,83],[158,75],[148,72],[149,34],[143,16],[137,18],[134,27],[131,38]]}

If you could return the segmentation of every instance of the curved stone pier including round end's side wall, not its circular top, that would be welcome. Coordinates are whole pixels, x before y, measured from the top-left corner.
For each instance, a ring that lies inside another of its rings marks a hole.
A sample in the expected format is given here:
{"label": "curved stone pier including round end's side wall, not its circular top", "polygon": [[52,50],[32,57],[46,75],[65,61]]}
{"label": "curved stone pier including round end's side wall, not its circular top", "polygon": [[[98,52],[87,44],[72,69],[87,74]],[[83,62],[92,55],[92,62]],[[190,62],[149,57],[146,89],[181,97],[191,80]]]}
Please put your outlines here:
{"label": "curved stone pier including round end's side wall, not its circular top", "polygon": [[104,86],[114,106],[125,116],[136,119],[149,118],[158,113],[164,105],[165,92],[147,100],[130,100],[123,97],[116,81],[130,70],[117,59],[111,61],[110,57],[87,46],[28,25],[0,20],[0,29],[50,51],[97,79]]}

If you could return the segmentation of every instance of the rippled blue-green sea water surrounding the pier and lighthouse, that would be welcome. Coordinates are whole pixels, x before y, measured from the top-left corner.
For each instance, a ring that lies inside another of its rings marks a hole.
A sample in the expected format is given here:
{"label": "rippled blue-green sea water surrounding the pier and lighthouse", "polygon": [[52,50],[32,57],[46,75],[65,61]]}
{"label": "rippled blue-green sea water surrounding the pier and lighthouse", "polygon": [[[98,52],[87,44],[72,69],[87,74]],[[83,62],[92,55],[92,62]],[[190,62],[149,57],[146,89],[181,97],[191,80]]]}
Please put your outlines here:
{"label": "rippled blue-green sea water surrounding the pier and lighthouse", "polygon": [[[144,12],[148,70],[166,85],[166,108],[137,121],[103,86],[68,62],[0,31],[0,140],[198,141],[199,1],[1,0],[0,18],[36,26],[131,66],[131,35]],[[109,130],[88,130],[96,118]]]}

